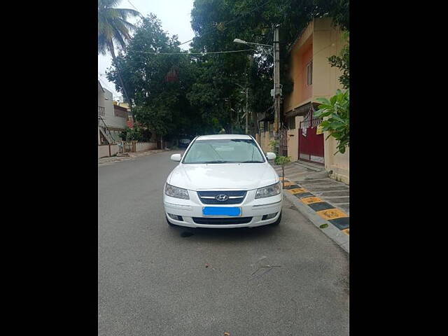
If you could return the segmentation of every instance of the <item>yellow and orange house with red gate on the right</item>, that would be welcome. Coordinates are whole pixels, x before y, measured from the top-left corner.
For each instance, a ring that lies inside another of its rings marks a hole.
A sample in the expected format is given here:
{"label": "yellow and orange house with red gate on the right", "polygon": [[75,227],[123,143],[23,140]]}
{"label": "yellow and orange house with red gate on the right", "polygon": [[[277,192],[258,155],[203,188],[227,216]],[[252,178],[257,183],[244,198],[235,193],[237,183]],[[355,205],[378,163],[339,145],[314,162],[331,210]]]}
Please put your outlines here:
{"label": "yellow and orange house with red gate on the right", "polygon": [[337,141],[321,133],[322,120],[314,118],[318,97],[330,98],[339,83],[339,69],[331,67],[328,57],[339,55],[344,46],[342,31],[333,28],[331,18],[315,18],[288,50],[289,76],[293,91],[283,100],[283,124],[287,127],[287,148],[291,160],[325,166],[330,177],[349,183],[349,149],[336,154]]}

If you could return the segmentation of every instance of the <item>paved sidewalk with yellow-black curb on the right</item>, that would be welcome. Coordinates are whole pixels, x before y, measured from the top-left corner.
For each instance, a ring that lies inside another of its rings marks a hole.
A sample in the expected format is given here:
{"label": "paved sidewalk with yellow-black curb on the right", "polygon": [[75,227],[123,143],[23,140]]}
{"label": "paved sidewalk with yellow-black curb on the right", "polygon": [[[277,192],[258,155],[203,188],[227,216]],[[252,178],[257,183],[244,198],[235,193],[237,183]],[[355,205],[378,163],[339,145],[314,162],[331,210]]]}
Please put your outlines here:
{"label": "paved sidewalk with yellow-black curb on the right", "polygon": [[[281,166],[272,165],[281,177]],[[285,166],[283,194],[318,228],[349,252],[350,188],[307,162]],[[325,225],[326,224],[326,225]]]}

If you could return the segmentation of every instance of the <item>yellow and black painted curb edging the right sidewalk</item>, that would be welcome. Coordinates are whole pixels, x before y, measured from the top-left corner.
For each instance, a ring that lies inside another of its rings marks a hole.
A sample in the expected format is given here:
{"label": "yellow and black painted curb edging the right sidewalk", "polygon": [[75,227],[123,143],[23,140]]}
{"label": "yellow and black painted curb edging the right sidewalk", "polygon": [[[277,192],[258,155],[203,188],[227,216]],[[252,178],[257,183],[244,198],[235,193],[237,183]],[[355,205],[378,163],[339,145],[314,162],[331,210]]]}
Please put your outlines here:
{"label": "yellow and black painted curb edging the right sidewalk", "polygon": [[[281,178],[281,181],[283,181],[283,178]],[[310,193],[307,189],[302,188],[297,183],[288,181],[288,179],[284,179],[283,189],[286,189],[288,193],[297,197],[300,202],[316,211],[316,214],[323,219],[332,223],[332,225],[335,225],[336,228],[346,235],[349,235],[350,216],[344,211],[335,208],[331,204]]]}

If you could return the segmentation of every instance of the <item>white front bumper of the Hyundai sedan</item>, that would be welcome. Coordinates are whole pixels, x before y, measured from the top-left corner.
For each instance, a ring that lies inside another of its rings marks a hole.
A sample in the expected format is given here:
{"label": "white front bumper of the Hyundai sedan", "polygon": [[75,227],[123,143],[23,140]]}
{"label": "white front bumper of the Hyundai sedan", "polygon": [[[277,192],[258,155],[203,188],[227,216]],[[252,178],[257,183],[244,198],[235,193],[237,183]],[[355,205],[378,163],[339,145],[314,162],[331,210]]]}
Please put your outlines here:
{"label": "white front bumper of the Hyundai sedan", "polygon": [[[249,190],[244,201],[241,204],[221,205],[218,204],[202,204],[196,192],[188,190],[190,200],[182,200],[179,198],[163,197],[165,214],[169,223],[174,225],[186,226],[189,228],[253,228],[255,226],[268,225],[274,223],[281,214],[283,204],[283,193],[272,197],[255,199],[256,190]],[[204,207],[239,207],[241,208],[241,216],[204,216],[202,209]],[[262,216],[274,214],[274,218],[262,220]],[[176,221],[168,214],[182,216],[183,221]],[[241,218],[251,217],[251,221],[241,224],[199,224],[195,223],[194,218]]]}

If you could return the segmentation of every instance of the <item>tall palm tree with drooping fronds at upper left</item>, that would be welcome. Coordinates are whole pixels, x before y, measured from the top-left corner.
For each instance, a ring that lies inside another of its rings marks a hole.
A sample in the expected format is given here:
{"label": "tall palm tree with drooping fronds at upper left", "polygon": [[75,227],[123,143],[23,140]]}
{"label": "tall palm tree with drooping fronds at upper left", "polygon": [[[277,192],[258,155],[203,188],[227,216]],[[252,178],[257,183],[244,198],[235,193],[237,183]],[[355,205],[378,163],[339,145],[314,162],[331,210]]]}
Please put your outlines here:
{"label": "tall palm tree with drooping fronds at upper left", "polygon": [[[131,38],[130,31],[135,29],[132,23],[127,22],[127,18],[141,16],[137,10],[115,8],[120,2],[121,0],[98,0],[98,55],[106,55],[106,52],[110,52],[113,61],[116,60],[115,46],[125,48],[127,41]],[[131,105],[119,70],[118,77],[126,99]]]}

